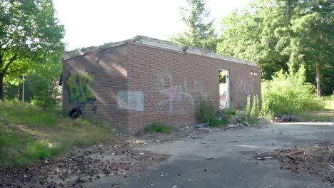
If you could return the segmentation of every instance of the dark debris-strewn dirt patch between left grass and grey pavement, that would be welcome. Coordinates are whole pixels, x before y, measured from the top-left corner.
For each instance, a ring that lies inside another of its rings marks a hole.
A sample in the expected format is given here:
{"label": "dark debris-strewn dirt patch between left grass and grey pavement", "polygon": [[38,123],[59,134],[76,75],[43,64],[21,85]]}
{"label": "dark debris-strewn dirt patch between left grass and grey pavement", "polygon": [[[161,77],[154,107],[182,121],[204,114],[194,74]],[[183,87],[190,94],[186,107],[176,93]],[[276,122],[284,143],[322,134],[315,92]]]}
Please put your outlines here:
{"label": "dark debris-strewn dirt patch between left grass and grey pavement", "polygon": [[122,145],[76,148],[64,157],[42,160],[24,167],[1,167],[0,187],[92,187],[91,184],[108,177],[112,185],[127,177],[139,176],[148,167],[168,159],[148,151],[133,150],[141,142]]}

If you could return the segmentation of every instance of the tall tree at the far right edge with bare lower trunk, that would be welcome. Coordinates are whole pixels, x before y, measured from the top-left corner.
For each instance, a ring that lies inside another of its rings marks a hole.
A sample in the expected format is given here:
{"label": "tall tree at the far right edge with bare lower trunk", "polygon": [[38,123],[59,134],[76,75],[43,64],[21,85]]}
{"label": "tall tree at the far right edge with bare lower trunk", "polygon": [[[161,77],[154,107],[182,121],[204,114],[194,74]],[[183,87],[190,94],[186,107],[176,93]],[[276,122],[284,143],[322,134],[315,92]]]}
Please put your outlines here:
{"label": "tall tree at the far right edge with bare lower trunk", "polygon": [[[315,72],[311,82],[315,80],[320,96],[321,75],[333,73],[334,67],[334,3],[327,0],[300,1],[298,12],[300,15],[292,25],[294,36],[290,61],[301,62]],[[333,78],[333,75],[329,76]],[[333,88],[333,83],[327,85]]]}

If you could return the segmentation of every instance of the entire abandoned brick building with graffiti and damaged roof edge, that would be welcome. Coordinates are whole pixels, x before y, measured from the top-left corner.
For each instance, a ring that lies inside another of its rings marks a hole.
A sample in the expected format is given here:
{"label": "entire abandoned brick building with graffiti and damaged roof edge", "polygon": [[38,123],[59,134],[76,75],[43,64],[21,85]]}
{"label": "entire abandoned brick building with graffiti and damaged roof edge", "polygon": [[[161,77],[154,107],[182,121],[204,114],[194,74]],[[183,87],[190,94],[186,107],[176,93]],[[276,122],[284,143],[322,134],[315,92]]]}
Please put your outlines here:
{"label": "entire abandoned brick building with graffiti and damaged roof edge", "polygon": [[151,122],[191,125],[201,100],[238,108],[248,95],[260,98],[260,81],[253,62],[136,36],[66,52],[63,109],[129,132]]}

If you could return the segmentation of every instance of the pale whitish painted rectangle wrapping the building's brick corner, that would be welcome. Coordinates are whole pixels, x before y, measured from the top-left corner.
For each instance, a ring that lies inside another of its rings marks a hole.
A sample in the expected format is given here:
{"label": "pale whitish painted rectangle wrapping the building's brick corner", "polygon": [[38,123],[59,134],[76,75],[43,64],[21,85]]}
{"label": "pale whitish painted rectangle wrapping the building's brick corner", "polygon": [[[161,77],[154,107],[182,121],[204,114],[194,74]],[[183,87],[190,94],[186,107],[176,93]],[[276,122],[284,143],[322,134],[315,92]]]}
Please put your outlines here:
{"label": "pale whitish painted rectangle wrapping the building's brick corner", "polygon": [[117,107],[121,110],[144,110],[143,91],[121,90],[117,92]]}

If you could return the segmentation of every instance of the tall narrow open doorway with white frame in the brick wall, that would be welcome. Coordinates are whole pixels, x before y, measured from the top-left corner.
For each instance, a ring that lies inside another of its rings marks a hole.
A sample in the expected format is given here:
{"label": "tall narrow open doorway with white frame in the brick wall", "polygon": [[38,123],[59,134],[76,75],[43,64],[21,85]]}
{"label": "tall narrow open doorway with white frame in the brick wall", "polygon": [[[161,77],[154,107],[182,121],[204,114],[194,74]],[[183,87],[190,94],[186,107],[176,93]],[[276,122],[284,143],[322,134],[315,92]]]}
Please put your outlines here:
{"label": "tall narrow open doorway with white frame in the brick wall", "polygon": [[226,69],[219,69],[219,107],[230,108],[230,78]]}

